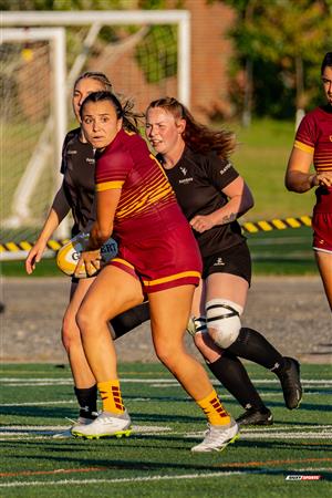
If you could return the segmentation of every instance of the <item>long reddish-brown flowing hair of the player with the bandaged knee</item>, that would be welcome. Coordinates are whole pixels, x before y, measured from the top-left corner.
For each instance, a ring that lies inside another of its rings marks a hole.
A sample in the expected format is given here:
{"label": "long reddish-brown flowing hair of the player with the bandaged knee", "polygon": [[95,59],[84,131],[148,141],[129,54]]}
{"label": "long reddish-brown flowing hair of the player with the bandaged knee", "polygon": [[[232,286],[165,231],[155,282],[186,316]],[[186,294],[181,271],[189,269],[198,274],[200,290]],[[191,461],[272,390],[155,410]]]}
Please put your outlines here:
{"label": "long reddish-brown flowing hair of the player with the bandaged knee", "polygon": [[235,149],[235,134],[226,129],[214,131],[198,123],[193,114],[180,102],[174,97],[164,97],[153,101],[148,107],[162,107],[173,114],[175,120],[185,120],[186,127],[183,139],[195,152],[216,152],[218,156],[227,158]]}

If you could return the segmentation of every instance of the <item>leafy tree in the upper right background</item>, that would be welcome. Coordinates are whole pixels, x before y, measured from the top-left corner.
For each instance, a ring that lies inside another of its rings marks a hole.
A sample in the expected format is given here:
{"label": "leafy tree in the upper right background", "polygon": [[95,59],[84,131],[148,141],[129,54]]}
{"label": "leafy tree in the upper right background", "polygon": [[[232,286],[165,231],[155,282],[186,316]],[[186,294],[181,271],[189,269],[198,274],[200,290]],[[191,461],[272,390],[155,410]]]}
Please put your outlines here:
{"label": "leafy tree in the upper right background", "polygon": [[[294,106],[308,105],[311,69],[332,45],[332,0],[224,0],[238,14],[230,35],[246,68],[243,122],[250,122],[256,69],[274,64]],[[260,74],[263,77],[263,74]]]}

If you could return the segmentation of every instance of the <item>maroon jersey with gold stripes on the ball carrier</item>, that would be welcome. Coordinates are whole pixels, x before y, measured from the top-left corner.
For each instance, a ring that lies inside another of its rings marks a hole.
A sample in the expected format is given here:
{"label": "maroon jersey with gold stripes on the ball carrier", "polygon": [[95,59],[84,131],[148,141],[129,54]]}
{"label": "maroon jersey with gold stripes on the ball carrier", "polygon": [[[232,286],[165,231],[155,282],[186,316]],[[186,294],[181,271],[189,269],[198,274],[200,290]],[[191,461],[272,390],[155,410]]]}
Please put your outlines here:
{"label": "maroon jersey with gold stripes on the ball carrier", "polygon": [[122,189],[114,219],[120,239],[160,234],[169,212],[174,225],[184,220],[162,166],[139,135],[118,132],[97,158],[95,183],[96,191]]}

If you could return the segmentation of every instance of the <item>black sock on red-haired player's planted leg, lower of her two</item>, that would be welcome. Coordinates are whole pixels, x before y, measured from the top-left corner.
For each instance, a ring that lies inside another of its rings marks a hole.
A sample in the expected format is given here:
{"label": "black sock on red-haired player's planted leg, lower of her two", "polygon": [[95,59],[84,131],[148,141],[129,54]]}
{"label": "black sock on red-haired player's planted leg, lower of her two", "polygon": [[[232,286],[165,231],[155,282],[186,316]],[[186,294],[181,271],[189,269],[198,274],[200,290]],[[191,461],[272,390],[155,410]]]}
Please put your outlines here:
{"label": "black sock on red-haired player's planted leg, lower of her two", "polygon": [[225,351],[221,357],[207,363],[207,366],[243,408],[267,409],[245,366],[234,354]]}

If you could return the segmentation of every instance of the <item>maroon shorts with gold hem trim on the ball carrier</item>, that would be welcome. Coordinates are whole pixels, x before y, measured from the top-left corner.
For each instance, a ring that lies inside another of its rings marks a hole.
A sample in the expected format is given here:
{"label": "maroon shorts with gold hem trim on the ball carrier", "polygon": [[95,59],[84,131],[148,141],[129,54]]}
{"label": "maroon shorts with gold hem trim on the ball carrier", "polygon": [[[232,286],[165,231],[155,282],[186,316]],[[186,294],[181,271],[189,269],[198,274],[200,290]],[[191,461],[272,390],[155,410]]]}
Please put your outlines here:
{"label": "maroon shorts with gold hem trim on the ball carrier", "polygon": [[118,255],[108,264],[121,268],[142,282],[145,293],[185,284],[198,286],[201,273],[200,252],[188,224],[158,237],[120,243]]}

